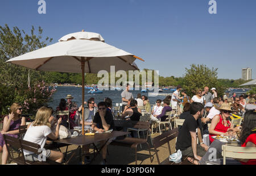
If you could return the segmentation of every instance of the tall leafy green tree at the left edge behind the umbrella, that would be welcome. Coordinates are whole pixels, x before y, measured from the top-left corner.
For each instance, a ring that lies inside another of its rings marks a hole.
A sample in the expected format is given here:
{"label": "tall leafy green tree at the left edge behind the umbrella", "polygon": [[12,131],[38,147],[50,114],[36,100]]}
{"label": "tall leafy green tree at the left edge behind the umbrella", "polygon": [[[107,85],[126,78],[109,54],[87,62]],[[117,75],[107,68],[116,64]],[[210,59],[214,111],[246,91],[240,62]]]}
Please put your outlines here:
{"label": "tall leafy green tree at the left edge behind the umbrella", "polygon": [[[36,85],[36,82],[48,78],[48,74],[27,69],[22,66],[6,63],[10,58],[23,55],[24,53],[34,51],[39,48],[46,47],[47,43],[51,43],[52,39],[46,37],[42,40],[43,30],[38,29],[38,35],[35,35],[35,28],[32,26],[31,33],[27,34],[18,27],[13,30],[7,24],[0,26],[0,114],[8,114],[8,108],[14,102],[24,104],[26,99],[36,97],[36,105],[46,104],[51,96],[38,97],[40,90],[36,90],[36,95],[30,94],[31,91],[27,85],[28,71],[30,72],[31,87]],[[48,80],[50,81],[50,80]],[[46,85],[47,86],[47,85]],[[35,112],[38,107],[30,107],[31,111]]]}

